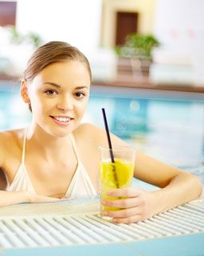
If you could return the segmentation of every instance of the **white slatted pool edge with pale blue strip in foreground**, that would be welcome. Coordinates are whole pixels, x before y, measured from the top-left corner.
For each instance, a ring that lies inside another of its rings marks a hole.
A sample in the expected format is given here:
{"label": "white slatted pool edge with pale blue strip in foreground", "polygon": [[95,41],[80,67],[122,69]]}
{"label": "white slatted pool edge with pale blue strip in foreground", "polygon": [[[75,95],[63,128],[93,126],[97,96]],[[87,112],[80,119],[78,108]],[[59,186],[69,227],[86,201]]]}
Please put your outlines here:
{"label": "white slatted pool edge with pale blue strip in foreground", "polygon": [[98,210],[98,198],[2,208],[0,255],[203,255],[203,200],[129,225]]}

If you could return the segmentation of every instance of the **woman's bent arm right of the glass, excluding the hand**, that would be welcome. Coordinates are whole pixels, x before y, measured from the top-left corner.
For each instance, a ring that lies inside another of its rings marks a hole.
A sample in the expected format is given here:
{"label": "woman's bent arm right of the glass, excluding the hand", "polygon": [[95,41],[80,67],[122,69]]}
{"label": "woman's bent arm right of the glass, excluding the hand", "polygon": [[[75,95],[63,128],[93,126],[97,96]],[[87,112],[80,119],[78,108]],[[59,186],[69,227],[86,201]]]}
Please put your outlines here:
{"label": "woman's bent arm right of the glass, excluding the hand", "polygon": [[145,154],[137,153],[137,159],[135,178],[162,188],[152,193],[155,204],[163,202],[158,204],[158,212],[189,202],[201,194],[201,182],[192,174],[156,161]]}

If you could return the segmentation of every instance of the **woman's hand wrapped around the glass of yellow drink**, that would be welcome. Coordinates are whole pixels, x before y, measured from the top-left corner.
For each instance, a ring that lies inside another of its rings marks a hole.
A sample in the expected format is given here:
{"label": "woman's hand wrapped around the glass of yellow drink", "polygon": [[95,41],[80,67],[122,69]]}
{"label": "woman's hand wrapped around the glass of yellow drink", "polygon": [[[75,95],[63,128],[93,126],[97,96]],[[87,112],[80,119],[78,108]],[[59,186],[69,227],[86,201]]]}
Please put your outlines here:
{"label": "woman's hand wrapped around the glass of yellow drink", "polygon": [[127,197],[117,200],[103,200],[104,206],[119,207],[121,210],[108,210],[103,215],[112,217],[116,223],[141,222],[151,218],[154,213],[152,193],[137,188],[110,190],[108,196]]}

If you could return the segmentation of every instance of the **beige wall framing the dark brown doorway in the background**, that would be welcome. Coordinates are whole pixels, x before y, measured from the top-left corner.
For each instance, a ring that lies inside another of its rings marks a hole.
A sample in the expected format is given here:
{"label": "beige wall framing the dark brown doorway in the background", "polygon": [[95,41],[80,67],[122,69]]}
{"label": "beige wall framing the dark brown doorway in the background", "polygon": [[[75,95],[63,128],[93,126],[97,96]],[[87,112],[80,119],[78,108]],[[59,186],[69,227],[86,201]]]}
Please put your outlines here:
{"label": "beige wall framing the dark brown doorway in the background", "polygon": [[139,33],[151,33],[154,23],[155,2],[156,0],[103,0],[101,46],[114,46],[117,11],[138,12]]}

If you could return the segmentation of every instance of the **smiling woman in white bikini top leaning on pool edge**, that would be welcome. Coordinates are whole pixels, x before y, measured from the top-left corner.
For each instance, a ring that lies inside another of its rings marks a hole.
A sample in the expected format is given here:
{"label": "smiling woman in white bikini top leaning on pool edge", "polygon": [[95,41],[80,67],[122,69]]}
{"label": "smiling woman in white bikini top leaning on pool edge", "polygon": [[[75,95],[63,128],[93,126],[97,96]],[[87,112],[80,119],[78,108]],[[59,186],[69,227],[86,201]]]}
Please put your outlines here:
{"label": "smiling woman in white bikini top leaning on pool edge", "polygon": [[[91,124],[80,124],[91,78],[87,58],[66,42],[49,42],[29,59],[21,95],[33,119],[27,129],[0,134],[0,166],[6,177],[0,206],[98,193],[98,147],[107,141],[106,134]],[[112,144],[126,145],[114,135]],[[201,183],[191,174],[140,152],[136,159],[135,178],[161,189],[112,190],[110,196],[128,197],[103,202],[124,208],[104,213],[113,222],[139,222],[201,194]]]}

